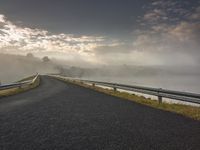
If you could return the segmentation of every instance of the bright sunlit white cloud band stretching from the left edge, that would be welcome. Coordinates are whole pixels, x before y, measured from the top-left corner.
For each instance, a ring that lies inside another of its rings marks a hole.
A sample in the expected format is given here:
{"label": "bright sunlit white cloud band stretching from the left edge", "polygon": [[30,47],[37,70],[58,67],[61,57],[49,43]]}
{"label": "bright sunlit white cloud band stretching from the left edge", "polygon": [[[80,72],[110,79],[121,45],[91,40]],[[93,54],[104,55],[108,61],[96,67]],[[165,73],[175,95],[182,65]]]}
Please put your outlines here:
{"label": "bright sunlit white cloud band stretching from the left edge", "polygon": [[[122,43],[102,36],[75,36],[72,34],[53,34],[46,30],[23,28],[5,19],[1,15],[0,52],[27,54],[36,56],[53,56],[66,60],[82,60],[101,64],[102,60],[95,55],[98,47],[117,47]],[[123,53],[123,52],[122,52]]]}

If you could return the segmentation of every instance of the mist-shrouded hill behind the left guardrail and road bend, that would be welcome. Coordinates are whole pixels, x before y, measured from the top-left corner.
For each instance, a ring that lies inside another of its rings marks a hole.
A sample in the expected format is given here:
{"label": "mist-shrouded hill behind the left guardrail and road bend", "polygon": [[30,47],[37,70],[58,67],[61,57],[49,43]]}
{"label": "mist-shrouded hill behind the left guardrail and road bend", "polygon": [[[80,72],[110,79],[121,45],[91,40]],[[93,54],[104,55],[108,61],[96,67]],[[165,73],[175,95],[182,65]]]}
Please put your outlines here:
{"label": "mist-shrouded hill behind the left guardrail and road bend", "polygon": [[21,56],[0,53],[0,81],[10,83],[36,73],[58,73],[56,65],[32,55]]}

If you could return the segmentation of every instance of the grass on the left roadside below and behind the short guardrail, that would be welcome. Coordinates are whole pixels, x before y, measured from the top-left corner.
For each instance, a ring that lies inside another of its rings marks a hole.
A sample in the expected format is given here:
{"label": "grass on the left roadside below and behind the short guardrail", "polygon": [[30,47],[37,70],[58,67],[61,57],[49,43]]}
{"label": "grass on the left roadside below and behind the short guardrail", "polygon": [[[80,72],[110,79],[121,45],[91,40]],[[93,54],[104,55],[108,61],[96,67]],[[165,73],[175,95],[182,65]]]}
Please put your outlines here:
{"label": "grass on the left roadside below and behind the short guardrail", "polygon": [[[27,81],[27,80],[31,80],[33,79],[35,76],[30,76],[27,78],[24,78],[18,82],[22,82],[22,81]],[[5,90],[0,90],[0,98],[1,97],[6,97],[6,96],[11,96],[11,95],[15,95],[21,92],[25,92],[28,91],[30,89],[36,88],[37,86],[39,86],[40,84],[40,78],[38,78],[35,83],[33,84],[29,84],[29,85],[24,85],[22,87],[17,87],[17,88],[10,88],[10,89],[5,89]]]}

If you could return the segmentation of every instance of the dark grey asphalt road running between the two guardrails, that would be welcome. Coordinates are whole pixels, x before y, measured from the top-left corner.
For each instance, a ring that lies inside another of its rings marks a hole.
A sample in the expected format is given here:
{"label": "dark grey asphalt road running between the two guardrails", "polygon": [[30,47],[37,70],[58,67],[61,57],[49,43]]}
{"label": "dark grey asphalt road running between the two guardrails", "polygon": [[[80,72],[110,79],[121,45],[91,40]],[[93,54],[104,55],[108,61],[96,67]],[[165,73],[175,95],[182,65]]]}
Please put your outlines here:
{"label": "dark grey asphalt road running between the two guardrails", "polygon": [[200,122],[50,77],[0,99],[0,150],[200,150]]}

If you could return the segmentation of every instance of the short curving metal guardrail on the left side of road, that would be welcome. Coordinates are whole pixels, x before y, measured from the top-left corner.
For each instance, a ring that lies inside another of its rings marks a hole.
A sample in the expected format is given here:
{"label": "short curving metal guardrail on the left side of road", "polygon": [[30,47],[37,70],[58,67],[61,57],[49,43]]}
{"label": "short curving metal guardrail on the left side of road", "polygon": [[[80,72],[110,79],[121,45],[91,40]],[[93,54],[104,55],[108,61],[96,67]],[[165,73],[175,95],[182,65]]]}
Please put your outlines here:
{"label": "short curving metal guardrail on the left side of road", "polygon": [[6,89],[11,89],[11,88],[22,87],[22,86],[28,85],[28,84],[33,84],[38,79],[38,77],[39,77],[39,74],[36,74],[35,77],[32,80],[0,85],[0,90],[6,90]]}

